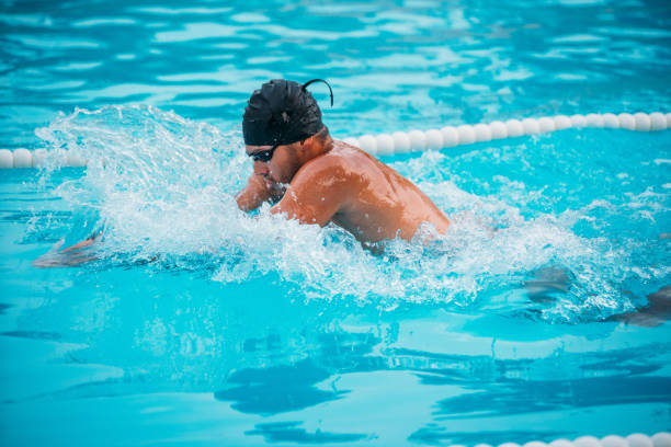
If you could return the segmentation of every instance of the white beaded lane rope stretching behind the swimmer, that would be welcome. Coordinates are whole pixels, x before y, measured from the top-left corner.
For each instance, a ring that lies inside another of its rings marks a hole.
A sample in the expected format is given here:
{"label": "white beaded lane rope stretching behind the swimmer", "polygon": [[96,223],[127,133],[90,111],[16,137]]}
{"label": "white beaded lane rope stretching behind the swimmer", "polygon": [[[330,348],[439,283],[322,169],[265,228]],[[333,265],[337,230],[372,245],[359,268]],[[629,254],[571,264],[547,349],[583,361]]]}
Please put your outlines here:
{"label": "white beaded lane rope stretching behind the swimmer", "polygon": [[[553,117],[496,121],[489,124],[446,126],[442,129],[395,131],[394,134],[363,135],[359,138],[344,138],[343,141],[360,147],[368,153],[393,156],[395,153],[439,150],[454,146],[471,145],[523,135],[547,134],[570,127],[605,127],[638,131],[664,130],[671,128],[671,113],[612,113],[587,115],[558,115]],[[0,149],[0,169],[39,168],[44,152],[27,149]],[[65,167],[84,167],[86,160],[69,157]]]}

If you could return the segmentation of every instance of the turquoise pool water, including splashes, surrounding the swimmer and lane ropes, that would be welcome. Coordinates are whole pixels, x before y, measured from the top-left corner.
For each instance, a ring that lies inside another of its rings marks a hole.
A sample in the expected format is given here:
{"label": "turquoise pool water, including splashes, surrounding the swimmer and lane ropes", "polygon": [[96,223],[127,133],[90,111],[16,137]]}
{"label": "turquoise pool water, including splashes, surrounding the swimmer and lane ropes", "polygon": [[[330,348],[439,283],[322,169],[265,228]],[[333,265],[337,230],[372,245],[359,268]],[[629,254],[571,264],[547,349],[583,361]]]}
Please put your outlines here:
{"label": "turquoise pool water, including splashes, surrounding the swimmer and lane ropes", "polygon": [[[1,11],[0,146],[47,150],[45,170],[0,171],[2,445],[671,428],[671,131],[386,158],[456,225],[384,255],[232,199],[242,108],[270,78],[328,79],[332,108],[312,91],[338,137],[669,112],[666,2]],[[100,260],[32,266],[100,229]]]}

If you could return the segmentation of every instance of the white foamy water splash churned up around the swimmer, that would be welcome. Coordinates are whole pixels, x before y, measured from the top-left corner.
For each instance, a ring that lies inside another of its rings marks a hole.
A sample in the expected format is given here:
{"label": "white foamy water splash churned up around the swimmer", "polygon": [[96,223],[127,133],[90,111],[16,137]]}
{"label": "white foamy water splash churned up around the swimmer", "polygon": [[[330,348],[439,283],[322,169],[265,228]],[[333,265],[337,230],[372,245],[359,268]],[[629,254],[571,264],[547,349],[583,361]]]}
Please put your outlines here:
{"label": "white foamy water splash churned up around the swimmer", "polygon": [[[446,174],[452,161],[436,152],[393,165],[454,225],[439,241],[423,243],[421,234],[388,241],[375,255],[333,225],[302,226],[271,215],[268,205],[255,215],[241,213],[235,194],[251,163],[239,129],[225,133],[138,105],[77,110],[36,134],[47,149],[45,176],[64,157],[89,161],[86,173],[56,194],[80,217],[68,239],[81,238],[81,228],[104,228],[98,249],[104,261],[95,267],[153,261],[157,270],[201,272],[225,284],[270,275],[303,299],[380,309],[492,307],[568,322],[630,310],[624,285],[650,274],[637,271],[629,247],[578,236],[572,227],[584,210],[530,210],[544,190],[530,194],[521,181],[502,182],[491,195],[469,193],[463,179]],[[548,266],[566,272],[568,283],[549,301],[534,301],[523,285]],[[659,268],[655,275],[668,277],[669,268]]]}

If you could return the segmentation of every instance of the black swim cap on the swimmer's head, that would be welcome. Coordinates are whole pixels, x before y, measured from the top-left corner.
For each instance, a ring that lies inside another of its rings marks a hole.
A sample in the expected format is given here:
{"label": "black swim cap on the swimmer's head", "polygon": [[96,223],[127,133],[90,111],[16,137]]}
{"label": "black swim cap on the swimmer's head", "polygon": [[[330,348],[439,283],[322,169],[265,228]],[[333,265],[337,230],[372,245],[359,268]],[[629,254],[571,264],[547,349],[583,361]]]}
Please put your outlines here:
{"label": "black swim cap on the swimmer's head", "polygon": [[261,85],[261,89],[254,90],[242,115],[244,144],[291,145],[321,130],[321,111],[317,101],[306,90],[306,87],[316,81],[329,85],[321,79],[314,79],[303,85],[285,79],[273,79]]}

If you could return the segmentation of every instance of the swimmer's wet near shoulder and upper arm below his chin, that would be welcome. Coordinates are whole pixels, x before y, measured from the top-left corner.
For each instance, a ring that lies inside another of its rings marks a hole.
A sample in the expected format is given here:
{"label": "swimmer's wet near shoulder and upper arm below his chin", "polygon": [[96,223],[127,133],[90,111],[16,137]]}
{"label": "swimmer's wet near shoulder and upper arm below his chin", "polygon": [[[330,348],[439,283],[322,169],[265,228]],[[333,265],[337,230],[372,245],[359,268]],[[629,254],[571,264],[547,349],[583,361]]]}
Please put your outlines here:
{"label": "swimmer's wet near shoulder and upper arm below his chin", "polygon": [[282,200],[271,208],[271,213],[284,214],[300,224],[323,227],[346,205],[349,190],[344,173],[332,167],[299,171]]}

